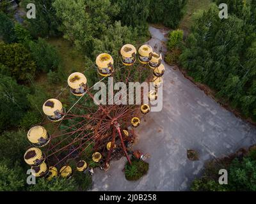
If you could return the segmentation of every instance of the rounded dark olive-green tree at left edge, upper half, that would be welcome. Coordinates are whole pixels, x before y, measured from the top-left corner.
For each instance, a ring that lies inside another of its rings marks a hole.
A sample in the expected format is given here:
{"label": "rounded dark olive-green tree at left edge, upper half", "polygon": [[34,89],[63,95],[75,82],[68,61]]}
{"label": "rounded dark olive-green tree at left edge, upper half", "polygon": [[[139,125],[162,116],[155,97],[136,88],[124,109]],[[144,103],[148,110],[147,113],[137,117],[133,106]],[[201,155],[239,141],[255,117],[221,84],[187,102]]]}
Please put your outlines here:
{"label": "rounded dark olive-green tree at left edge, upper half", "polygon": [[0,61],[17,80],[28,80],[35,75],[36,64],[29,50],[20,43],[0,44]]}

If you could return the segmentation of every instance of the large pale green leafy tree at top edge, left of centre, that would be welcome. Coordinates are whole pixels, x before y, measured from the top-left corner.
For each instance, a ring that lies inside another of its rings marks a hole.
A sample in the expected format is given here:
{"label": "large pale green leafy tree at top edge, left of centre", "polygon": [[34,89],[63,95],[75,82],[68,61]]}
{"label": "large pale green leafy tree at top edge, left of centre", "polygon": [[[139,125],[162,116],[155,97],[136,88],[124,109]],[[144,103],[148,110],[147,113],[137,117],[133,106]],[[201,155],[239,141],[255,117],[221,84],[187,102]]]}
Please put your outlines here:
{"label": "large pale green leafy tree at top edge, left of centre", "polygon": [[104,34],[118,11],[109,0],[56,0],[53,6],[61,19],[60,31],[64,33],[64,38],[89,54],[93,49],[93,38]]}

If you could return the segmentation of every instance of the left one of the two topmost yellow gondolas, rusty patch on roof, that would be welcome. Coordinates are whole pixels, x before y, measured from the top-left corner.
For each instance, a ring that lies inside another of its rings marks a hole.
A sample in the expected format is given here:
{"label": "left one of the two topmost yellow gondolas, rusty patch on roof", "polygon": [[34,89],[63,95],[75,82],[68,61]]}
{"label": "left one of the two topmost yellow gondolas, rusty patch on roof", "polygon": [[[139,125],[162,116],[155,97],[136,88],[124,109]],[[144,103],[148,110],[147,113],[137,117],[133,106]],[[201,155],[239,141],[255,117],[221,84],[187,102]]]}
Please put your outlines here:
{"label": "left one of the two topmost yellow gondolas, rusty patch on roof", "polygon": [[132,66],[134,62],[136,62],[137,50],[133,45],[131,44],[124,45],[121,48],[120,53],[122,55],[122,63],[125,66]]}

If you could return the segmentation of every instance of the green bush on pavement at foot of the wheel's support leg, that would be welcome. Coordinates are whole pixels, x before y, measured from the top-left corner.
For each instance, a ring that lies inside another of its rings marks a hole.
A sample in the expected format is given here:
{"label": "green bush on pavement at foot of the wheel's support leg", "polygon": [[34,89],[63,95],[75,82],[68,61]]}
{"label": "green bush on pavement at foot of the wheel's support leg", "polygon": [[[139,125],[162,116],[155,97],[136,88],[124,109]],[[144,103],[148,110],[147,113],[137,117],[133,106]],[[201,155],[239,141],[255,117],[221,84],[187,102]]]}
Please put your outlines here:
{"label": "green bush on pavement at foot of the wheel's support leg", "polygon": [[125,164],[125,179],[139,180],[148,172],[148,163],[138,159],[132,159],[132,165]]}

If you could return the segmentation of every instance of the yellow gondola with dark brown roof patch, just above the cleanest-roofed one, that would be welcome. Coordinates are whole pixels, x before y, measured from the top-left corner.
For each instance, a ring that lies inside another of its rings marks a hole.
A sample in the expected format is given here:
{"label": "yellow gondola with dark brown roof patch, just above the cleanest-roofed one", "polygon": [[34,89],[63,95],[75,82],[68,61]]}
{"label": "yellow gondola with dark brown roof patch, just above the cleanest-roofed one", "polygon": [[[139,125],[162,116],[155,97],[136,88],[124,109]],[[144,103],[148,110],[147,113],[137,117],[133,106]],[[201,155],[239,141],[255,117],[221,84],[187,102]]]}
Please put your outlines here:
{"label": "yellow gondola with dark brown roof patch, just above the cleanest-roofed one", "polygon": [[53,122],[58,122],[65,117],[62,103],[58,99],[45,101],[43,111],[47,115],[47,118]]}

